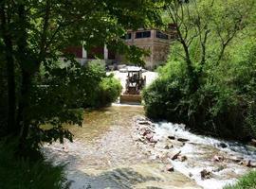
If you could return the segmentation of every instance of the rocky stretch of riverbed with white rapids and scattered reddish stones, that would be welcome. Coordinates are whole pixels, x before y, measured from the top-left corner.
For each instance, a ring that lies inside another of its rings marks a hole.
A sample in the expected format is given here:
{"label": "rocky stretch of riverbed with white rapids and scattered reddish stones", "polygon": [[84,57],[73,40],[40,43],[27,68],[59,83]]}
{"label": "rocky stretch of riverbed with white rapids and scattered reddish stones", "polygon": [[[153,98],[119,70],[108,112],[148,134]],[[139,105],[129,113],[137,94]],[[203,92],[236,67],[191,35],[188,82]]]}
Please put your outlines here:
{"label": "rocky stretch of riverbed with white rapids and scattered reddish stones", "polygon": [[183,125],[134,117],[133,139],[163,172],[179,171],[205,189],[221,189],[256,167],[256,149],[195,135]]}

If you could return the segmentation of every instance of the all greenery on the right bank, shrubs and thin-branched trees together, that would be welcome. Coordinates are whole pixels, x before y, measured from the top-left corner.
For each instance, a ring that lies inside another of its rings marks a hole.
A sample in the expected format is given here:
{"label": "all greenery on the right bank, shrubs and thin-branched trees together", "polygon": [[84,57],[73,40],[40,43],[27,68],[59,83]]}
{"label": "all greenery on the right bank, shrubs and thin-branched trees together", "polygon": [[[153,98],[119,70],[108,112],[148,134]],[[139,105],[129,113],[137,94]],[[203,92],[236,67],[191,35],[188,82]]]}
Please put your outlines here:
{"label": "all greenery on the right bank, shrubs and thin-branched trees together", "polygon": [[144,91],[146,113],[203,133],[256,137],[254,1],[171,3],[177,26],[167,65]]}

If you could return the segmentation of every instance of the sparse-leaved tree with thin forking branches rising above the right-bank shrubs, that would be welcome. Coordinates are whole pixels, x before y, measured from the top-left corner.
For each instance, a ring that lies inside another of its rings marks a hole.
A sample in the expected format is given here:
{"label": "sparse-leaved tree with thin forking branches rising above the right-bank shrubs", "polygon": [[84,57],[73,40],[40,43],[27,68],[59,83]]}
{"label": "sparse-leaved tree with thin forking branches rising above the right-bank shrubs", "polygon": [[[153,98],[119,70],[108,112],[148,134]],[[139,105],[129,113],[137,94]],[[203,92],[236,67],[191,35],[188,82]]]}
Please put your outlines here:
{"label": "sparse-leaved tree with thin forking branches rising above the right-bank shrubs", "polygon": [[[190,89],[199,88],[207,62],[217,66],[234,38],[249,26],[254,1],[170,1],[167,13],[177,30],[182,53],[174,52],[187,65]],[[214,45],[212,45],[214,43]],[[214,46],[214,49],[212,48]]]}

